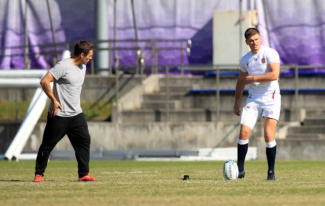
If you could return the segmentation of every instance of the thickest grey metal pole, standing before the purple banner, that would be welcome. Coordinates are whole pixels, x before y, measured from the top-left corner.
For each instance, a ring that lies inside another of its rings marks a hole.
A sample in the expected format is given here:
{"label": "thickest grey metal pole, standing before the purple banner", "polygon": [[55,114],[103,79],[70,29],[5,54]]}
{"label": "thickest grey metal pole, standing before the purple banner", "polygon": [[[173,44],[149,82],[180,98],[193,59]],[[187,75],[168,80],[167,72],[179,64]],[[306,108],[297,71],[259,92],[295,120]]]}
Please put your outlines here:
{"label": "thickest grey metal pole, standing before the purple banner", "polygon": [[109,43],[108,43],[108,1],[96,0],[95,1],[95,29],[96,29],[96,53],[94,60],[96,62],[96,73],[107,75],[110,71],[109,65]]}

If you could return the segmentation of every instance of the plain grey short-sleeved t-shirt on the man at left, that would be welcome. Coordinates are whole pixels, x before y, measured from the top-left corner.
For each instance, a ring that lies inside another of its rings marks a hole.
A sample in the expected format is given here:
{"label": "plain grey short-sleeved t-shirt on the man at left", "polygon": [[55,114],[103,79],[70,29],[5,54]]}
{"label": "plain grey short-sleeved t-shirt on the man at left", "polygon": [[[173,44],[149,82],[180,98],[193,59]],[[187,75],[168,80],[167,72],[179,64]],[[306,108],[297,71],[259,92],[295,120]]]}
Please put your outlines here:
{"label": "plain grey short-sleeved t-shirt on the man at left", "polygon": [[53,82],[53,94],[63,108],[63,111],[57,109],[56,115],[72,117],[82,113],[80,93],[85,80],[86,65],[76,66],[71,58],[66,58],[55,64],[49,72],[56,80]]}

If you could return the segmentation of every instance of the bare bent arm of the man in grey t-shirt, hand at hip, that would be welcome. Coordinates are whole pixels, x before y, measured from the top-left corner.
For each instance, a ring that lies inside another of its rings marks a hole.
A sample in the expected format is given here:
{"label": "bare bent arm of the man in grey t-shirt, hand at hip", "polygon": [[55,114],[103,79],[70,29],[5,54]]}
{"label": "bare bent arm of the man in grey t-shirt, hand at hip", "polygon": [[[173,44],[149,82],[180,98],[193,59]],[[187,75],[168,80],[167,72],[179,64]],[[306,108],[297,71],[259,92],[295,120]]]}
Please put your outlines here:
{"label": "bare bent arm of the man in grey t-shirt, hand at hip", "polygon": [[49,99],[51,100],[52,104],[51,104],[51,108],[50,108],[50,116],[53,117],[56,115],[56,110],[60,109],[63,110],[60,102],[57,101],[57,99],[55,98],[52,89],[51,89],[51,82],[54,82],[55,78],[53,77],[53,75],[50,72],[47,72],[46,75],[41,79],[40,84],[42,86],[42,89],[44,91],[44,93],[49,97]]}

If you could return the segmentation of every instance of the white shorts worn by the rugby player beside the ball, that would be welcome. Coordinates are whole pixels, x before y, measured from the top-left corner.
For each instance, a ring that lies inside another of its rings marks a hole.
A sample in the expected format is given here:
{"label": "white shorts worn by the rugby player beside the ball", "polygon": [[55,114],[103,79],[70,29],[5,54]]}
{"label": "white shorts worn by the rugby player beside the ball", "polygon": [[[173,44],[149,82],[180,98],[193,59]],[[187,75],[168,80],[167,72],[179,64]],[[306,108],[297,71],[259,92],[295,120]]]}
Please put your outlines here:
{"label": "white shorts worn by the rugby player beside the ball", "polygon": [[254,128],[261,117],[269,117],[279,121],[281,99],[270,97],[247,98],[245,107],[240,114],[240,124]]}

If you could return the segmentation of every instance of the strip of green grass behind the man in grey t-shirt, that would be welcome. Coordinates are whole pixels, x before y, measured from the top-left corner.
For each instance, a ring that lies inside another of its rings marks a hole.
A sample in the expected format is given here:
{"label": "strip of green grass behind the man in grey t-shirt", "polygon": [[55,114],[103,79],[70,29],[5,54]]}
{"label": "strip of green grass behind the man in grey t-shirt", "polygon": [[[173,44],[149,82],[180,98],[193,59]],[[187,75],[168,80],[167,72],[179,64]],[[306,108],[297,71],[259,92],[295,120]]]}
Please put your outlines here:
{"label": "strip of green grass behind the man in grey t-shirt", "polygon": [[[0,101],[0,120],[2,121],[21,121],[26,115],[29,107],[29,101]],[[98,102],[82,102],[81,108],[87,120],[103,121],[107,120],[111,115],[111,106],[113,102],[98,101]],[[46,120],[49,102],[47,103],[41,120]]]}

